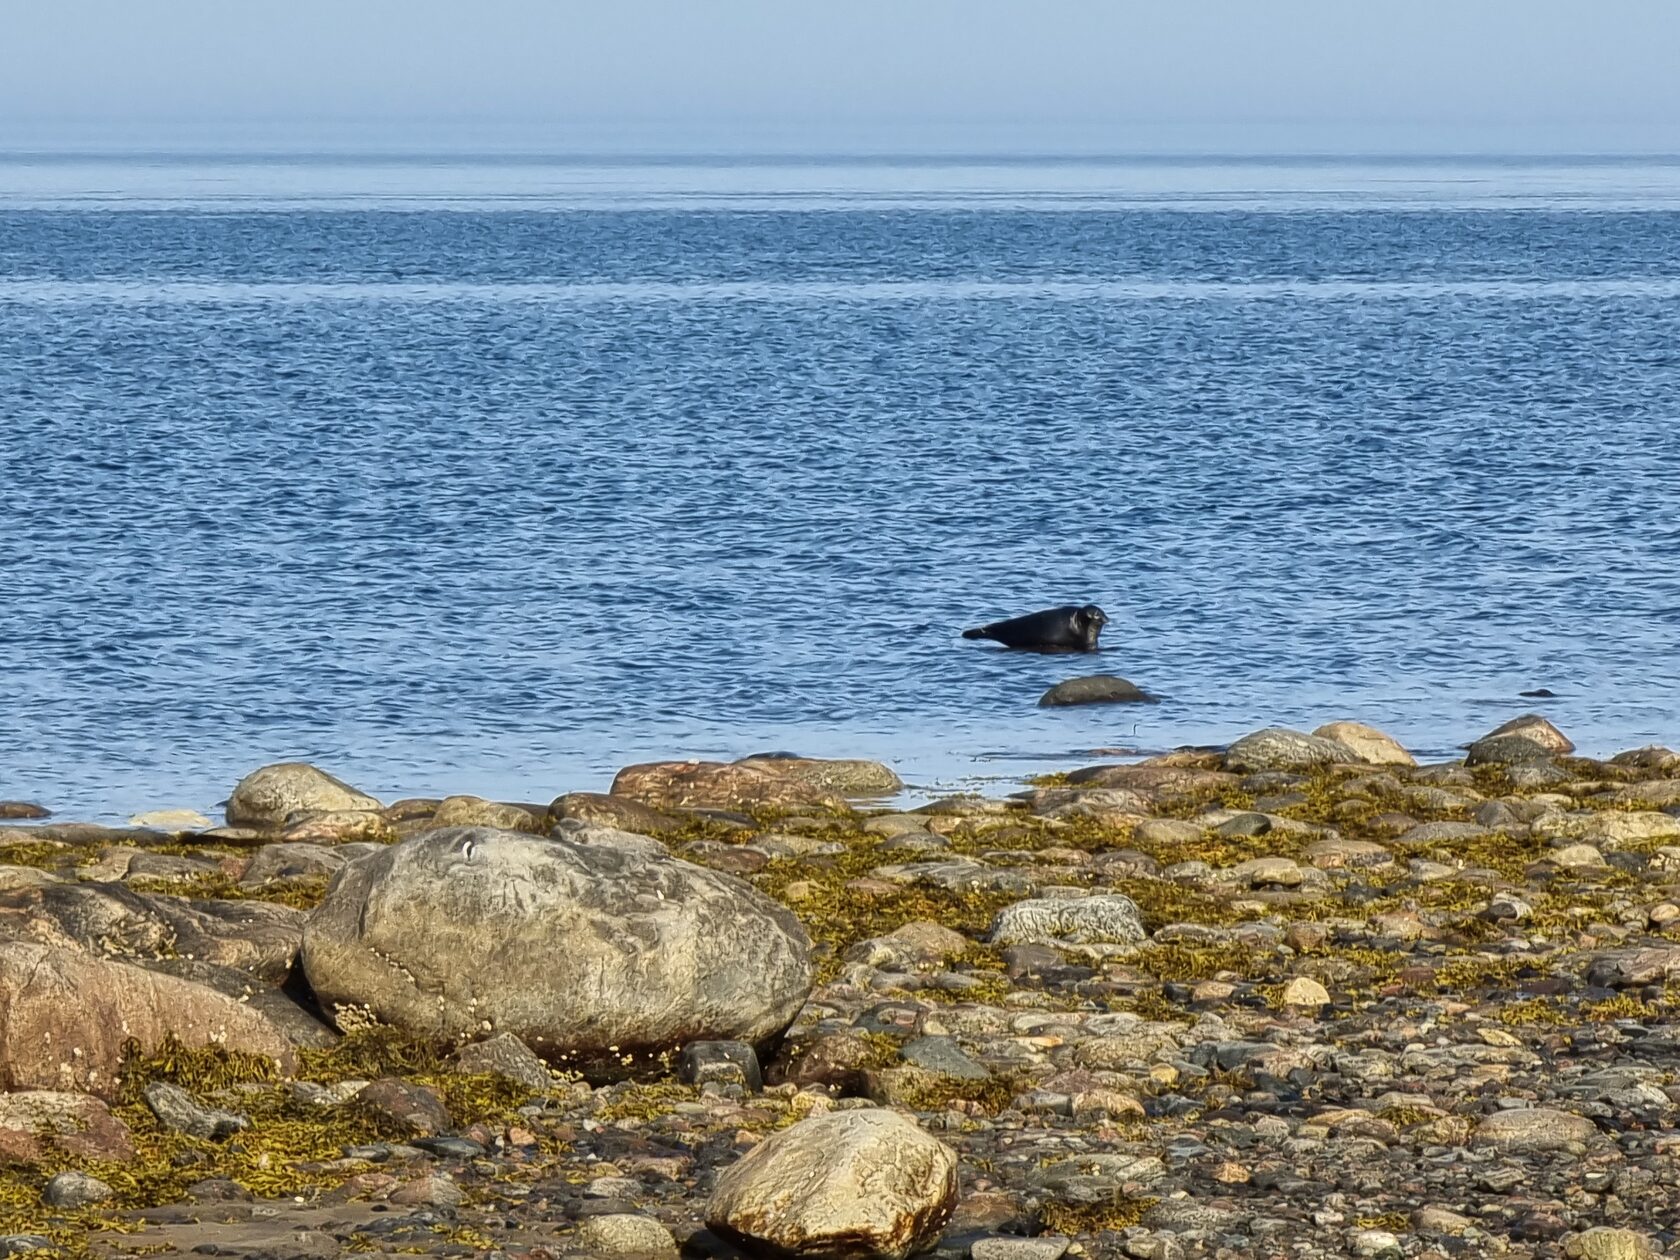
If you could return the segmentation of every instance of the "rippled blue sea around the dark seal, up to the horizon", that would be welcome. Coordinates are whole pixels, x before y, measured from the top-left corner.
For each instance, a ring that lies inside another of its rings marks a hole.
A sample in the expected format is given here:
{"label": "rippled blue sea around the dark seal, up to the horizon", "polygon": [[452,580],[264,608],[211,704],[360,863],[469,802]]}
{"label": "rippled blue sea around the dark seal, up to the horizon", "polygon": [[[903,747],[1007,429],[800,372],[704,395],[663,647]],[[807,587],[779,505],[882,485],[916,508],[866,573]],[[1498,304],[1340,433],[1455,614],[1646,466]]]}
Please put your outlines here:
{"label": "rippled blue sea around the dark seal, up to the horizon", "polygon": [[[1680,741],[1675,163],[0,158],[0,425],[66,815]],[[1035,709],[1092,669],[1166,702]]]}

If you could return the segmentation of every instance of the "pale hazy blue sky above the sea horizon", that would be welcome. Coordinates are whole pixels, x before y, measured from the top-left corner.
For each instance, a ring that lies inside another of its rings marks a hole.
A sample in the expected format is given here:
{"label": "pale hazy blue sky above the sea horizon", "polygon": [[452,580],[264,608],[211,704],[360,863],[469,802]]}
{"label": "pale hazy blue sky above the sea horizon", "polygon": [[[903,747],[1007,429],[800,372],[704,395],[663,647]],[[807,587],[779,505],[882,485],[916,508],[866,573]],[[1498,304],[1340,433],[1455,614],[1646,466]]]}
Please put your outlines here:
{"label": "pale hazy blue sky above the sea horizon", "polygon": [[1675,0],[10,0],[0,144],[1680,151]]}

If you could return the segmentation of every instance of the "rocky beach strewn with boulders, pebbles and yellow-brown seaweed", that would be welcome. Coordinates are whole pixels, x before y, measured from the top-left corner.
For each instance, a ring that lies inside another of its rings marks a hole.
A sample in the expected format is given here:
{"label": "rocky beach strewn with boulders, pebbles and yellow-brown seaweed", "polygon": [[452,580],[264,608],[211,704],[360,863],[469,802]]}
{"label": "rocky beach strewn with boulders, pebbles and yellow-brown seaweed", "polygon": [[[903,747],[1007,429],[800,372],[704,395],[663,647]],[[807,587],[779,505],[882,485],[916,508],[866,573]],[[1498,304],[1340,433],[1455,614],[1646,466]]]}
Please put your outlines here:
{"label": "rocky beach strewn with boulders, pebbles and yellow-brown seaweed", "polygon": [[3,801],[0,1255],[1670,1253],[1680,754],[1475,736]]}

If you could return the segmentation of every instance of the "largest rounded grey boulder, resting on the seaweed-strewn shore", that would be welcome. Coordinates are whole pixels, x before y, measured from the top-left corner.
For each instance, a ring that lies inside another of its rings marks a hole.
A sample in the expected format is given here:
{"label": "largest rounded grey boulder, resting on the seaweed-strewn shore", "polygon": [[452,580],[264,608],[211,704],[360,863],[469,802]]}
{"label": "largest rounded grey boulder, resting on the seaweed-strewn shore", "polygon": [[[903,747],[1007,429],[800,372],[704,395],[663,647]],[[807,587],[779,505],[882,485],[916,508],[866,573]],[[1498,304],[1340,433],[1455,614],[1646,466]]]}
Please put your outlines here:
{"label": "largest rounded grey boulder, resting on the seaweed-strewn shore", "polygon": [[811,990],[798,919],[633,838],[470,827],[361,857],[304,927],[309,984],[328,1013],[422,1037],[514,1033],[581,1068],[778,1038]]}

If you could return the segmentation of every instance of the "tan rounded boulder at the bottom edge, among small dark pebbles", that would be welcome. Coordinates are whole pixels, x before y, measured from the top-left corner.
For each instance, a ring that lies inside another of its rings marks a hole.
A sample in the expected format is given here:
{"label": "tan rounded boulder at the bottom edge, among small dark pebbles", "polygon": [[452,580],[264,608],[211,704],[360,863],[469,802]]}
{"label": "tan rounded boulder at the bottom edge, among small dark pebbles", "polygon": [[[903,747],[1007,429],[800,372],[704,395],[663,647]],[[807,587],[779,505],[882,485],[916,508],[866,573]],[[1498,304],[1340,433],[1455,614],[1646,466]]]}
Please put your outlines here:
{"label": "tan rounded boulder at the bottom edge, among small dark pebbles", "polygon": [[842,1110],[771,1134],[719,1179],[706,1223],[776,1257],[904,1260],[956,1211],[956,1156],[892,1110]]}

